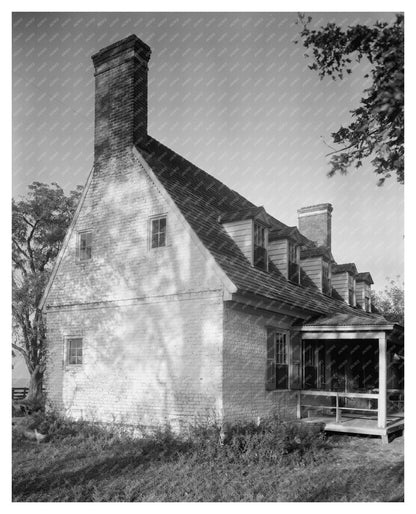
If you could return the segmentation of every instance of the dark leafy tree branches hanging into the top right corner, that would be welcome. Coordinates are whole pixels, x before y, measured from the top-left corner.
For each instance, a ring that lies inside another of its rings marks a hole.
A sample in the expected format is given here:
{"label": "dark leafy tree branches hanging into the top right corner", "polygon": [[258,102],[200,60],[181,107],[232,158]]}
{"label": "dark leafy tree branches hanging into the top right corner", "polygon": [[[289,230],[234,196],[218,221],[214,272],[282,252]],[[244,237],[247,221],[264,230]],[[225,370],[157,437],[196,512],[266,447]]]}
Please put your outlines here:
{"label": "dark leafy tree branches hanging into the top right corner", "polygon": [[[319,30],[310,28],[312,18],[299,15],[303,28],[303,46],[312,50],[314,62],[309,66],[321,79],[343,79],[352,73],[353,59],[366,58],[371,80],[364,89],[358,108],[350,111],[352,122],[331,134],[337,147],[330,157],[329,176],[345,174],[351,166],[359,168],[372,156],[371,164],[380,178],[378,185],[396,174],[404,183],[404,17],[396,15],[391,23],[374,26],[354,25],[342,30],[328,23]],[[297,41],[296,41],[297,42]],[[309,57],[308,54],[305,54]]]}

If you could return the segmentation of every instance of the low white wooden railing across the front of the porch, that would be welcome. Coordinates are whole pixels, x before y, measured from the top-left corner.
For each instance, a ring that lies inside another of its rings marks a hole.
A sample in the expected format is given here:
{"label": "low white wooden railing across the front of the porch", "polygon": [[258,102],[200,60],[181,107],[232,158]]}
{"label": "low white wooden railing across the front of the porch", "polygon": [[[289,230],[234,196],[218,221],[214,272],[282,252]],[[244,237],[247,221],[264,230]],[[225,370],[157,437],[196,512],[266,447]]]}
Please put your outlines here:
{"label": "low white wooden railing across the front of the porch", "polygon": [[[303,403],[302,396],[313,396],[313,397],[327,397],[335,398],[335,405],[319,405],[316,403]],[[378,408],[373,407],[374,400],[377,400],[378,405],[379,395],[376,393],[343,393],[338,391],[299,391],[298,404],[297,404],[297,417],[302,417],[302,408],[308,408],[310,410],[335,410],[335,422],[340,423],[342,418],[342,411],[359,411],[359,412],[371,412],[378,415]],[[368,400],[367,407],[355,407],[352,405],[345,405],[342,399],[363,399]],[[343,405],[342,405],[343,404]]]}

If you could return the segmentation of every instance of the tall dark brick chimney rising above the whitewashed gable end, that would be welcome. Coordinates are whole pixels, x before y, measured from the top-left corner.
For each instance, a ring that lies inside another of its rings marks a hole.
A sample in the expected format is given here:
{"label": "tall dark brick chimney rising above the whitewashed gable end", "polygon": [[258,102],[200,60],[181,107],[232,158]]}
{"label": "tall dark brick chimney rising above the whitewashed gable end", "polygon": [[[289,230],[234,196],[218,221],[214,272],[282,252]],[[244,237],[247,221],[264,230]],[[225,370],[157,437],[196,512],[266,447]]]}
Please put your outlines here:
{"label": "tall dark brick chimney rising above the whitewashed gable end", "polygon": [[95,163],[147,136],[150,48],[131,35],[92,56],[95,67]]}

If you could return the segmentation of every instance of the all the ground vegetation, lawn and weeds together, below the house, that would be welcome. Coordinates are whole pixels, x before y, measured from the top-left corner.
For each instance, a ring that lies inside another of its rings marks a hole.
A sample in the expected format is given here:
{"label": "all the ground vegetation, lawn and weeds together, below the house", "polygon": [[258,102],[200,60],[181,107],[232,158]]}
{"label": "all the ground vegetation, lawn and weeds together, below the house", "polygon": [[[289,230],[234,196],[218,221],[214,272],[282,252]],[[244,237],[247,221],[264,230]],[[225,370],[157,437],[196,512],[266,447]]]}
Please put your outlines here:
{"label": "all the ground vegetation, lawn and weeds together, below the house", "polygon": [[403,501],[402,439],[337,436],[277,419],[134,439],[49,415],[13,436],[14,501]]}

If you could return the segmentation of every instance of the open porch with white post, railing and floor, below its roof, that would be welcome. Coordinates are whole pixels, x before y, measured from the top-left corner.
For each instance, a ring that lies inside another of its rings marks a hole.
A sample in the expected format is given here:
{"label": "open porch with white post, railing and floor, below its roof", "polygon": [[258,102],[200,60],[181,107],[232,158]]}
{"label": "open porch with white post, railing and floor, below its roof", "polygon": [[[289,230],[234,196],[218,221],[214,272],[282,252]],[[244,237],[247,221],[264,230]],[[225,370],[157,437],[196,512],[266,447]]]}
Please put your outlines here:
{"label": "open porch with white post, railing and floor, below its roof", "polygon": [[403,332],[389,329],[302,327],[297,417],[383,442],[403,431]]}

